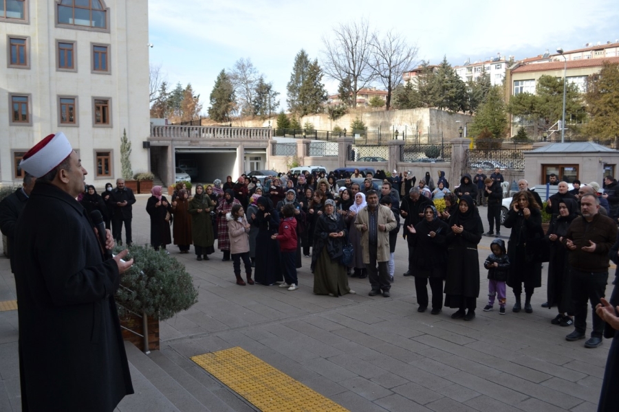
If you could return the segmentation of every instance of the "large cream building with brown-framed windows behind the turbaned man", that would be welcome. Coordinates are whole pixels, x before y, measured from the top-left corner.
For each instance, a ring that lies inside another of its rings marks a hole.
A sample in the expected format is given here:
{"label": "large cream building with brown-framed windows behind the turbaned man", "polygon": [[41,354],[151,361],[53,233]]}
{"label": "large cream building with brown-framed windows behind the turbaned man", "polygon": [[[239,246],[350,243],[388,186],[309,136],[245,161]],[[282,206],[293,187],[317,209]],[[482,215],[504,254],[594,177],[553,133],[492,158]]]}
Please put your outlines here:
{"label": "large cream building with brown-framed windows behind the turbaned man", "polygon": [[[120,177],[120,138],[134,172],[149,168],[147,0],[3,0],[0,9],[0,181],[23,179],[19,161],[62,130],[102,187]],[[4,61],[3,61],[4,60]]]}

